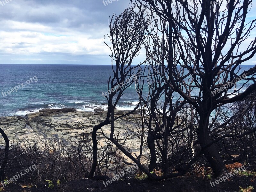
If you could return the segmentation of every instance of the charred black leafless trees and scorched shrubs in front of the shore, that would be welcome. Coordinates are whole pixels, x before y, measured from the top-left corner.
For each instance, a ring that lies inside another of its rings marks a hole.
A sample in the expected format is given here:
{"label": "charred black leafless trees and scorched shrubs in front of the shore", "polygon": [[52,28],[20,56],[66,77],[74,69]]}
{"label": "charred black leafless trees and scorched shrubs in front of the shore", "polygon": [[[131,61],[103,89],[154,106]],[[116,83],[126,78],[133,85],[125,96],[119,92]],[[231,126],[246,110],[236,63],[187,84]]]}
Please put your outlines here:
{"label": "charred black leafless trees and scorched shrubs in front of the shore", "polygon": [[[37,182],[107,180],[132,164],[139,169],[130,174],[146,174],[150,180],[196,175],[202,167],[218,177],[227,172],[225,164],[249,165],[256,153],[256,66],[242,71],[241,64],[256,52],[256,39],[250,36],[255,20],[246,19],[251,3],[131,0],[129,9],[110,17],[105,36],[113,69],[106,89],[125,82],[105,96],[106,120],[90,130],[82,128],[80,140],[68,143],[43,138],[9,145],[0,130],[5,140],[0,179],[4,171],[10,176],[32,164],[37,171],[23,179]],[[140,52],[145,53],[143,61],[132,65]],[[132,75],[137,78],[127,82]],[[247,78],[235,96],[235,84],[212,94],[239,76]],[[116,115],[114,109],[131,85],[138,104]],[[117,132],[116,120],[132,114],[125,134]],[[106,125],[109,134],[102,129]],[[128,137],[138,140],[139,152],[126,145]]]}

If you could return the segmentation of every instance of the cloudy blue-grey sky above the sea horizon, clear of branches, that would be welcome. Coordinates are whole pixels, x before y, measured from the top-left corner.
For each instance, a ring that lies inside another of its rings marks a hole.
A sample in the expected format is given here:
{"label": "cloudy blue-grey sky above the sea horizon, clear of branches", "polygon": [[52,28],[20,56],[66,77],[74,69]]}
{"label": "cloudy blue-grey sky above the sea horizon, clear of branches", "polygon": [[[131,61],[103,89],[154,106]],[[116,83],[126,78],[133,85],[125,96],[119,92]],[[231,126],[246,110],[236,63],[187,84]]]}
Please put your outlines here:
{"label": "cloudy blue-grey sky above the sea horizon, clear of branches", "polygon": [[[129,4],[130,0],[105,5],[102,0],[0,0],[0,64],[111,64],[103,43],[108,19]],[[255,63],[256,56],[246,64]]]}

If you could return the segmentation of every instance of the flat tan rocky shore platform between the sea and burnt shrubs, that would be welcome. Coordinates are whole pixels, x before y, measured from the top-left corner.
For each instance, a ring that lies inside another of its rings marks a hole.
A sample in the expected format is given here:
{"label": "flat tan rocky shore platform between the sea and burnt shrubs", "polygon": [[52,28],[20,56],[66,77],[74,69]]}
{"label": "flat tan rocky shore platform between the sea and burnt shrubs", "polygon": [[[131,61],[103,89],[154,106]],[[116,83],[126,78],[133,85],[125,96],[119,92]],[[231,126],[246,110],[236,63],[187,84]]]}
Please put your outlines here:
{"label": "flat tan rocky shore platform between the sea and burnt shrubs", "polygon": [[[119,116],[128,112],[128,110],[115,110],[115,115]],[[26,137],[42,137],[44,135],[62,137],[66,141],[79,140],[83,133],[81,128],[84,127],[89,132],[93,126],[105,120],[106,113],[107,111],[102,110],[84,112],[76,111],[74,108],[46,108],[38,113],[27,114],[25,117],[0,117],[0,128],[4,130],[10,141],[16,142],[22,142]],[[127,126],[134,126],[132,119],[135,118],[140,118],[140,115],[135,113],[116,120],[115,131],[124,133]],[[104,126],[102,130],[108,134],[110,125]],[[2,136],[0,136],[0,141],[4,141]],[[139,142],[133,136],[129,136],[126,142],[132,144],[135,151],[139,150]],[[104,145],[103,142],[101,144]]]}

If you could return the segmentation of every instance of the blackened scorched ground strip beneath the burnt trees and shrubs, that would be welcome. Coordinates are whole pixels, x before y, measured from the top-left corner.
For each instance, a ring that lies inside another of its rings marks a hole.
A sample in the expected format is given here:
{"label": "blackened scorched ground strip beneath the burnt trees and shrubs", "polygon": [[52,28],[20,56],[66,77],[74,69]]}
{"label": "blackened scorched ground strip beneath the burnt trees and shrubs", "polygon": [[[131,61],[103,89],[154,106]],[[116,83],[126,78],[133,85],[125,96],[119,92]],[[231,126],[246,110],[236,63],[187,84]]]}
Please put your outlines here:
{"label": "blackened scorched ground strip beneath the burnt trees and shrubs", "polygon": [[[45,185],[32,185],[15,183],[10,186],[0,188],[0,191],[6,192],[33,192],[33,191],[59,191],[59,192],[233,192],[239,191],[239,186],[246,188],[249,185],[256,189],[256,182],[253,177],[233,176],[229,181],[222,182],[215,187],[211,187],[210,180],[202,180],[189,176],[172,178],[164,181],[149,181],[149,180],[126,180],[115,181],[105,187],[102,181],[94,181],[90,179],[74,180],[66,183],[61,183],[59,186],[55,184],[53,189]],[[211,181],[214,181],[212,179]],[[256,191],[254,189],[254,191]]]}

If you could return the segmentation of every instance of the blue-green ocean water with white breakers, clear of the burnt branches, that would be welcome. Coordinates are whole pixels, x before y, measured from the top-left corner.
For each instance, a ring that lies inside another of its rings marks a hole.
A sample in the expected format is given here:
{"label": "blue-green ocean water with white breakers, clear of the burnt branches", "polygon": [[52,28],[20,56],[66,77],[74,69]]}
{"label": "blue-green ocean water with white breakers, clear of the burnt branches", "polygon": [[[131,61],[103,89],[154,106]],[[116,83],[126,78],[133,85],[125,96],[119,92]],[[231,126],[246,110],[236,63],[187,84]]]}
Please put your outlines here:
{"label": "blue-green ocean water with white breakers, clear of the burnt branches", "polygon": [[[243,70],[250,67],[243,66]],[[110,65],[0,64],[0,116],[24,116],[42,108],[73,107],[80,111],[106,108],[107,100],[102,92],[108,91],[109,76],[113,76]],[[9,95],[4,93],[15,86],[16,89],[20,86],[17,92],[13,89]],[[117,108],[133,109],[137,101],[132,84]]]}

